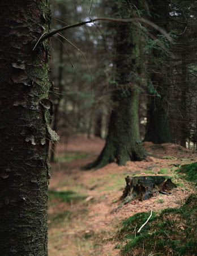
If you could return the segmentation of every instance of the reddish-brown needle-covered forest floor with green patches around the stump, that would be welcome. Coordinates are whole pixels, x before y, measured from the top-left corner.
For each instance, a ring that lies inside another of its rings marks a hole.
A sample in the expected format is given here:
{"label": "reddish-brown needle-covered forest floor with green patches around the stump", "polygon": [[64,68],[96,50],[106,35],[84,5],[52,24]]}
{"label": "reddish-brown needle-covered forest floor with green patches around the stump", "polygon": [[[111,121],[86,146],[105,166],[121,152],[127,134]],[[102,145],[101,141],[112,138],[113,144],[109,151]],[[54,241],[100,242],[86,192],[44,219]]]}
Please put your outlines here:
{"label": "reddish-brown needle-covered forest floor with green patches around the stump", "polygon": [[[49,256],[119,255],[115,234],[122,220],[151,209],[179,207],[192,192],[175,170],[196,162],[196,152],[172,143],[145,142],[145,150],[157,157],[81,170],[96,159],[104,144],[100,138],[75,135],[62,138],[57,146],[49,185]],[[170,195],[131,201],[118,208],[127,175],[169,175],[178,187]]]}

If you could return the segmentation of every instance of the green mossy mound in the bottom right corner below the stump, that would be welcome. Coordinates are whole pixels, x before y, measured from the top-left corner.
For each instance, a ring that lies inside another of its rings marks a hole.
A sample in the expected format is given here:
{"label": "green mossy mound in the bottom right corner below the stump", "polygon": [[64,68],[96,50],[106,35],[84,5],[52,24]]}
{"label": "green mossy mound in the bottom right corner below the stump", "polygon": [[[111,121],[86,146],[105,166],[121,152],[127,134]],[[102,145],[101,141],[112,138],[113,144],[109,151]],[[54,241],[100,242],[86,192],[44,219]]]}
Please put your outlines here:
{"label": "green mossy mound in the bottom right corner below the stump", "polygon": [[[196,255],[197,196],[191,195],[180,208],[164,209],[148,219],[150,212],[135,214],[122,222],[117,247],[122,255]],[[125,244],[124,246],[122,246]]]}

